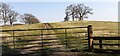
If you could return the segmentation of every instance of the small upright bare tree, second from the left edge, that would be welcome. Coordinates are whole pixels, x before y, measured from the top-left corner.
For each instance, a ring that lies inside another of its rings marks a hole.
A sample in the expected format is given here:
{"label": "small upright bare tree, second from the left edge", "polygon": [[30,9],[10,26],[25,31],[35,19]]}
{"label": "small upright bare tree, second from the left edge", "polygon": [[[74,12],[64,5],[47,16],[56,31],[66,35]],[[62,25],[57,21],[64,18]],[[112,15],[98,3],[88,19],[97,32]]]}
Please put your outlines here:
{"label": "small upright bare tree, second from the left edge", "polygon": [[19,14],[17,13],[17,12],[15,12],[15,11],[13,11],[13,10],[11,10],[9,13],[8,13],[8,20],[9,20],[9,22],[10,22],[10,25],[12,25],[13,24],[13,22],[16,22],[17,21],[17,16],[18,16]]}

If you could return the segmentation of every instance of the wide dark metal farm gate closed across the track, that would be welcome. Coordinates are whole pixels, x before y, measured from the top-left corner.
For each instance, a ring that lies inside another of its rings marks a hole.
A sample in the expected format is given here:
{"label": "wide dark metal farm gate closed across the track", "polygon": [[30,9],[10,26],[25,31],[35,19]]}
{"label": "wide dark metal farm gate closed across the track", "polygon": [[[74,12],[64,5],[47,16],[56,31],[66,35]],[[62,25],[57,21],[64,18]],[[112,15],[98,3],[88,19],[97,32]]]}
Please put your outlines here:
{"label": "wide dark metal farm gate closed across the track", "polygon": [[92,26],[2,30],[3,55],[45,55],[90,50]]}

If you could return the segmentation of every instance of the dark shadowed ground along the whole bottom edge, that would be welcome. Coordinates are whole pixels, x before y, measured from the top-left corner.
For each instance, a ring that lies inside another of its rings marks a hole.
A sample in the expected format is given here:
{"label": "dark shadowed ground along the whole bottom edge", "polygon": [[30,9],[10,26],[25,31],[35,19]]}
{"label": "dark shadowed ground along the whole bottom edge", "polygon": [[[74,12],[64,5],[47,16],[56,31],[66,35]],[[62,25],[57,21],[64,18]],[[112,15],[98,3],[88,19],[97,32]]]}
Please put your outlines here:
{"label": "dark shadowed ground along the whole bottom edge", "polygon": [[[40,51],[40,50],[39,50]],[[86,51],[86,50],[85,50]],[[19,51],[9,48],[8,46],[3,45],[3,51],[2,56],[120,56],[119,53],[91,53],[91,52],[81,52],[79,50],[71,50],[70,52],[62,52],[54,54],[55,51],[53,51],[52,48],[45,48],[42,49],[41,52],[34,54],[21,54]]]}

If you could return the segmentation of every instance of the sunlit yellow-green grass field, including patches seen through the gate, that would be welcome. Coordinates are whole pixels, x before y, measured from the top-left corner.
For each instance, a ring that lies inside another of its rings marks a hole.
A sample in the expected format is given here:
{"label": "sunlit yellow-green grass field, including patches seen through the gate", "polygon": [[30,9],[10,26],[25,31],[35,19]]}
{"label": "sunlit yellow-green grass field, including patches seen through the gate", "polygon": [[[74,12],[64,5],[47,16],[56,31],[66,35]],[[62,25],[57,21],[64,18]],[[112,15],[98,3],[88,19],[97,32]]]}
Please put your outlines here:
{"label": "sunlit yellow-green grass field, including patches seen through the gate", "polygon": [[[119,22],[120,23],[120,22]],[[119,25],[118,22],[105,22],[105,21],[70,21],[70,22],[57,22],[57,23],[49,23],[49,26],[51,28],[67,28],[67,27],[87,27],[88,25],[92,25],[93,27],[93,36],[120,36],[118,34],[119,32]],[[37,24],[30,24],[30,25],[15,25],[15,26],[3,26],[0,27],[1,30],[19,30],[19,29],[44,29],[44,23],[37,23]],[[49,27],[48,27],[49,28]],[[86,32],[87,29],[69,29],[67,32],[73,33],[73,32]],[[64,30],[44,30],[44,34],[54,34],[54,33],[64,33]],[[13,32],[2,32],[2,34],[5,35],[13,35]],[[37,35],[41,34],[40,30],[35,30],[35,31],[15,31],[15,36],[22,36],[22,35]],[[66,35],[65,34],[57,34],[58,39],[60,39],[60,43],[65,45],[64,40]],[[55,37],[55,36],[54,36]],[[68,47],[67,48],[72,48],[75,47],[76,49],[82,49],[83,45],[81,42],[86,42],[86,41],[81,41],[82,37],[85,39],[85,34],[67,34],[67,42],[68,42]],[[74,38],[74,37],[81,37],[79,38]],[[12,39],[6,39],[4,41],[10,41]],[[16,39],[17,40],[17,39]],[[33,37],[20,37],[18,38],[19,40],[37,40],[36,38]],[[81,42],[79,42],[81,41]],[[45,42],[49,42],[49,40],[45,40]],[[95,41],[96,43],[98,41]],[[118,41],[103,41],[104,43],[119,43]],[[72,43],[72,44],[71,44]],[[18,42],[16,44],[28,44],[26,42]],[[73,45],[74,44],[74,45]],[[77,47],[76,47],[77,46]],[[21,47],[21,46],[18,46]],[[98,46],[95,46],[96,48]],[[48,47],[45,47],[48,48]],[[106,48],[114,48],[113,46],[111,47],[104,47]],[[98,55],[98,54],[96,54]],[[119,55],[119,54],[118,54]],[[107,56],[107,55],[106,55]],[[111,55],[113,56],[113,55]]]}

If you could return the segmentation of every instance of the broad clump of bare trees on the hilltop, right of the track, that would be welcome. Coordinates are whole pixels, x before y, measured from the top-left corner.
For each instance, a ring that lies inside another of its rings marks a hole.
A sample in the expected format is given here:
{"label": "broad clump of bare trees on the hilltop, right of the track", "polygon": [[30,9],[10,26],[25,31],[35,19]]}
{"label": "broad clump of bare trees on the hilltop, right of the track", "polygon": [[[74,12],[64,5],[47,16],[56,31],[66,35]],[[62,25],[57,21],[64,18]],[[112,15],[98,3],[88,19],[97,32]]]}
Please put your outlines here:
{"label": "broad clump of bare trees on the hilltop, right of the track", "polygon": [[[76,20],[83,20],[84,18],[88,18],[88,14],[93,14],[91,11],[93,9],[85,6],[84,4],[71,4],[69,6],[67,6],[67,9],[65,10],[66,12],[68,12],[68,15],[66,14],[66,16],[68,17],[72,17],[72,20],[74,21],[75,18]],[[66,18],[66,17],[65,17]]]}

